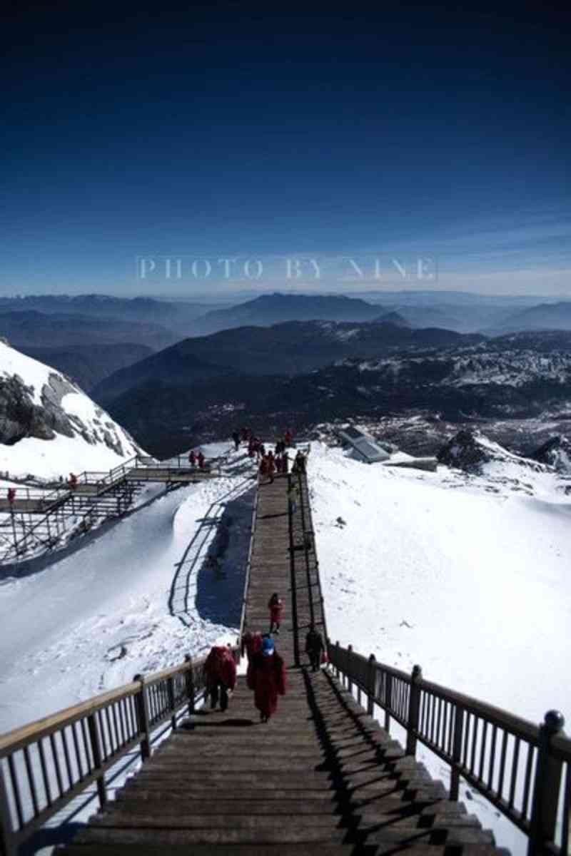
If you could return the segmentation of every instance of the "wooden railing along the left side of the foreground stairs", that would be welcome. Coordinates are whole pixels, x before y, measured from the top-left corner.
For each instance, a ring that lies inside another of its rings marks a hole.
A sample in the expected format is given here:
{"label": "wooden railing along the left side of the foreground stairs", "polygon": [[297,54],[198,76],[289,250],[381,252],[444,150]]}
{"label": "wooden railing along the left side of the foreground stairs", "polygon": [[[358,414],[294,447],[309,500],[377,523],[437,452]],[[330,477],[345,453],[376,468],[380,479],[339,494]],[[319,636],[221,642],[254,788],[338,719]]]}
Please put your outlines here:
{"label": "wooden railing along the left side of the foreground stairs", "polygon": [[[239,659],[239,649],[233,649]],[[143,761],[152,732],[182,709],[192,712],[204,693],[205,658],[190,657],[155,675],[47,716],[0,737],[0,853],[15,856],[21,842],[96,782],[107,800],[105,774],[134,747]]]}

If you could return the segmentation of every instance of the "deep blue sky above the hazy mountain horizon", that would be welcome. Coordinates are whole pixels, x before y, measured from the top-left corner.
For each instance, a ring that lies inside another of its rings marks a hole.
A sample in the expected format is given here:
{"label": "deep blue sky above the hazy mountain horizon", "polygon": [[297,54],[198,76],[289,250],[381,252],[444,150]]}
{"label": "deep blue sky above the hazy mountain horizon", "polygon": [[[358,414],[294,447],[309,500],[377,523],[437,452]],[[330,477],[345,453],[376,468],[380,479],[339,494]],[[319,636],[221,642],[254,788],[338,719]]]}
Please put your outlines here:
{"label": "deep blue sky above the hazy mountain horizon", "polygon": [[569,13],[145,6],[9,16],[3,294],[156,294],[138,256],[423,254],[441,288],[571,296]]}

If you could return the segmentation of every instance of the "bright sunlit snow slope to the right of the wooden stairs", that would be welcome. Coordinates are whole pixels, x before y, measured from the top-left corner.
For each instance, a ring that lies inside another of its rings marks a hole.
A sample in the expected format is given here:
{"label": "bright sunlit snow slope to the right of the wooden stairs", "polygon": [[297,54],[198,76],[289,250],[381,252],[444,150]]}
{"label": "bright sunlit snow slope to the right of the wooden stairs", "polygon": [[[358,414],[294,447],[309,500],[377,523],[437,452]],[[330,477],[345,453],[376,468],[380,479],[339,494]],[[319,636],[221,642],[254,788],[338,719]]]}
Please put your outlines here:
{"label": "bright sunlit snow slope to the right of the wooden stairs", "polygon": [[[571,500],[553,473],[526,472],[522,493],[519,463],[483,469],[367,467],[312,443],[330,638],[399,669],[419,663],[426,679],[532,722],[550,708],[569,720]],[[419,756],[446,779],[435,756]],[[475,801],[500,844],[524,853],[523,836]]]}

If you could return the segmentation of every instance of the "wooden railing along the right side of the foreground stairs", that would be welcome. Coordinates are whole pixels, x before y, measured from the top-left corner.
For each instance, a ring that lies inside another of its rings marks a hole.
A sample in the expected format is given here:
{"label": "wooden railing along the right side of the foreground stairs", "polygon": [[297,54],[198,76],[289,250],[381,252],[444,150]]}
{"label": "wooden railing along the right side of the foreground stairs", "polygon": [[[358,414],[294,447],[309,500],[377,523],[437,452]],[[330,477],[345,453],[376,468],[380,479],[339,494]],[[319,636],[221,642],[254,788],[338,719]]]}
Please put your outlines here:
{"label": "wooden railing along the right side of the foreground stairs", "polygon": [[406,729],[407,755],[420,741],[449,764],[449,800],[458,800],[462,777],[527,836],[528,853],[568,853],[571,739],[561,713],[548,710],[537,726],[425,681],[419,666],[408,675],[329,639],[327,653],[343,687],[355,687],[359,703],[365,693],[367,713],[374,716],[375,705],[384,710],[387,733],[391,717]]}

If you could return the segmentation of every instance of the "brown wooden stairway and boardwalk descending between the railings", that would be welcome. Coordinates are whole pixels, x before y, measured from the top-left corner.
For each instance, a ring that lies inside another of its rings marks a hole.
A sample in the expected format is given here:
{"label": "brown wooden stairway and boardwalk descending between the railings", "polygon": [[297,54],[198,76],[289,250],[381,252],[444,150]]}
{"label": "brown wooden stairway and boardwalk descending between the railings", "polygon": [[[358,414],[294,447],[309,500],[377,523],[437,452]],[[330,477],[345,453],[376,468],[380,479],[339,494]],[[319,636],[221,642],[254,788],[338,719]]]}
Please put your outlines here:
{"label": "brown wooden stairway and boardwalk descending between the railings", "polygon": [[[307,502],[306,485],[303,493]],[[288,514],[287,479],[262,484],[247,624],[267,630],[271,592],[285,599],[277,648],[288,688],[277,714],[261,724],[241,680],[226,713],[184,722],[63,853],[497,853],[491,833],[350,693],[307,669],[308,615],[323,617],[307,534],[301,508]]]}

